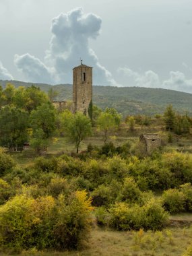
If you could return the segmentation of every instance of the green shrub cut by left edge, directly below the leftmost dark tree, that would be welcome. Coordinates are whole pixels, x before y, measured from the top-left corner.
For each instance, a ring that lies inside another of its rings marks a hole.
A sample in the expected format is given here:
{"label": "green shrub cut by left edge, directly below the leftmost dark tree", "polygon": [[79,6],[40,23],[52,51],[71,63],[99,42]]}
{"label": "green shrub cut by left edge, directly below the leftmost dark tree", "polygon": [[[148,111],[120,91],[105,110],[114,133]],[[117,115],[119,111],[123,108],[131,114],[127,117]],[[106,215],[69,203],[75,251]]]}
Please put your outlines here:
{"label": "green shrub cut by left edge, directly below the leftmost dark tree", "polygon": [[0,177],[7,171],[12,170],[13,166],[15,166],[15,162],[13,158],[5,153],[3,148],[0,148]]}

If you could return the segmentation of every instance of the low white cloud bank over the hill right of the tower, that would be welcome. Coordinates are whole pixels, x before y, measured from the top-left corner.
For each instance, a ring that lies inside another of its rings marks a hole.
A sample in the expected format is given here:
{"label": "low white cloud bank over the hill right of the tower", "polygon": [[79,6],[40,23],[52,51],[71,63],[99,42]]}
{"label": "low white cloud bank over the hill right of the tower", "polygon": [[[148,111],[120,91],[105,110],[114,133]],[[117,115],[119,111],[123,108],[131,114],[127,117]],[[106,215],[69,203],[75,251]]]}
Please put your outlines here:
{"label": "low white cloud bank over the hill right of the tower", "polygon": [[129,67],[119,67],[118,73],[123,78],[122,84],[124,86],[166,88],[192,93],[192,79],[187,79],[185,74],[180,71],[170,71],[168,79],[164,81],[161,81],[158,74],[152,70],[141,74],[129,69]]}

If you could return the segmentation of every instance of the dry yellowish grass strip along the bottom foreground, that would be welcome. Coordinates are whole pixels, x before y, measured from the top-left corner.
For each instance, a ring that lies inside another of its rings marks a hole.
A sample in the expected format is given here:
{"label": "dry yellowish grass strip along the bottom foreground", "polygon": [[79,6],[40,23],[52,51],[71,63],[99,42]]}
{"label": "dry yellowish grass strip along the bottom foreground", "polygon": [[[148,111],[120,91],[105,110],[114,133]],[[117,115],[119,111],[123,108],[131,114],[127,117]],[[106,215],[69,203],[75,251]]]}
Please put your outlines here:
{"label": "dry yellowish grass strip along the bottom foreground", "polygon": [[192,228],[170,228],[157,232],[118,232],[95,227],[82,251],[23,252],[23,256],[181,256],[192,239]]}

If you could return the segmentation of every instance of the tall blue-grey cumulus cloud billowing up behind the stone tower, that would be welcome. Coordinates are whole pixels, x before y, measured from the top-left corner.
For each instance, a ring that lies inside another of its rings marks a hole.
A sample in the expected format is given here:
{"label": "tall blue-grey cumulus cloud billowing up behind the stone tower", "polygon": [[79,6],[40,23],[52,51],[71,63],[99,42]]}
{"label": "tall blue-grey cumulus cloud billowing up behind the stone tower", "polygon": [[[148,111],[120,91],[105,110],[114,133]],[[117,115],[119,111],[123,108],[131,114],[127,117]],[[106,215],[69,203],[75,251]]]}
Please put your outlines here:
{"label": "tall blue-grey cumulus cloud billowing up behind the stone tower", "polygon": [[89,46],[89,39],[100,34],[102,20],[93,13],[84,14],[81,7],[61,13],[53,19],[53,36],[44,61],[26,53],[15,55],[15,65],[32,82],[71,82],[72,69],[79,65],[79,58],[94,67],[94,84],[117,85],[111,73],[98,61]]}

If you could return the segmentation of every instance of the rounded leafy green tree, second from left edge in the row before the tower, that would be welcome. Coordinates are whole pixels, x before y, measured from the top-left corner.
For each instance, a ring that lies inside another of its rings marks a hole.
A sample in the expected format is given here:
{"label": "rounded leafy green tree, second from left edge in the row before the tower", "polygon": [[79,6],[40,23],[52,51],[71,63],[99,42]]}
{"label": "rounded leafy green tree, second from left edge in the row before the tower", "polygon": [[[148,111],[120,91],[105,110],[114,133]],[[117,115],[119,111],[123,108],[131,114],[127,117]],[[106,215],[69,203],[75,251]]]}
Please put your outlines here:
{"label": "rounded leafy green tree, second from left edge in the row before the tower", "polygon": [[55,108],[51,104],[42,104],[30,114],[32,127],[31,146],[38,154],[48,146],[49,139],[55,131]]}

